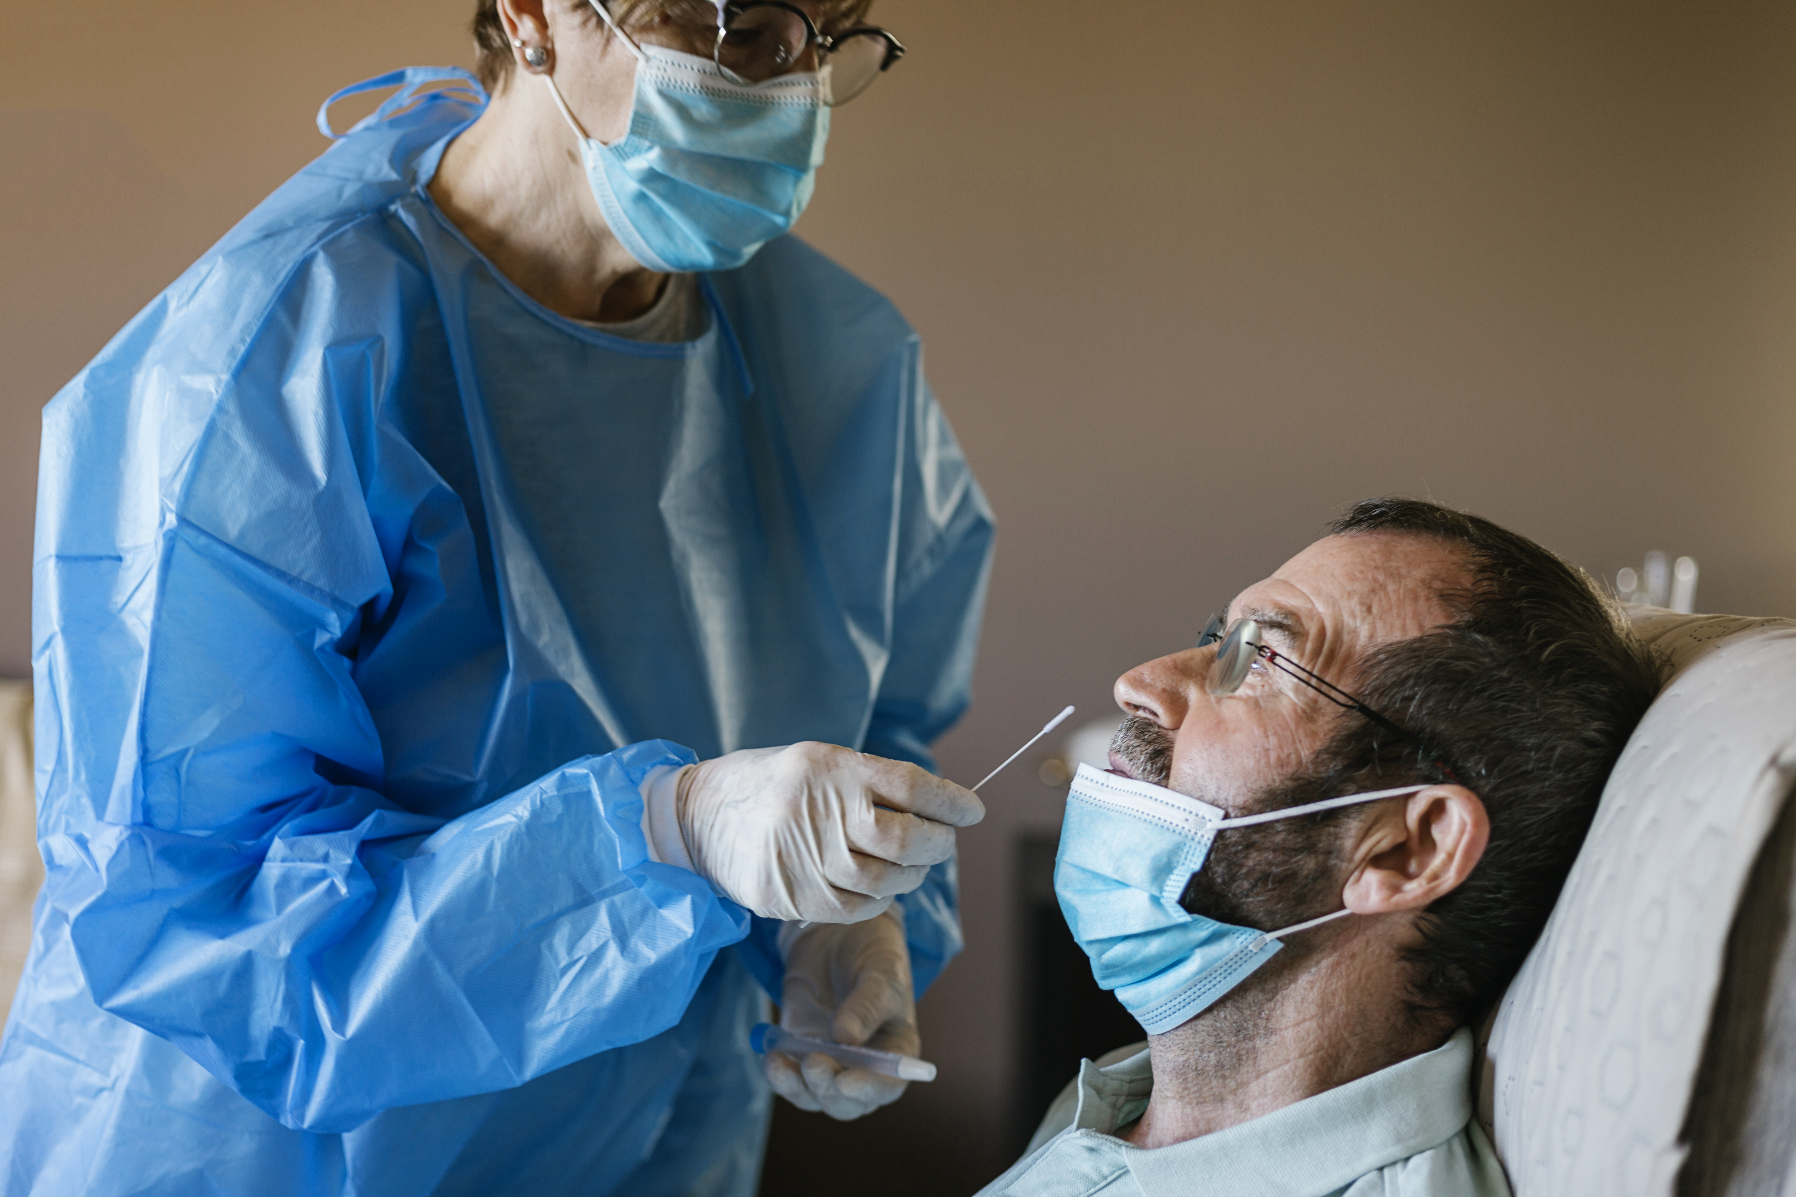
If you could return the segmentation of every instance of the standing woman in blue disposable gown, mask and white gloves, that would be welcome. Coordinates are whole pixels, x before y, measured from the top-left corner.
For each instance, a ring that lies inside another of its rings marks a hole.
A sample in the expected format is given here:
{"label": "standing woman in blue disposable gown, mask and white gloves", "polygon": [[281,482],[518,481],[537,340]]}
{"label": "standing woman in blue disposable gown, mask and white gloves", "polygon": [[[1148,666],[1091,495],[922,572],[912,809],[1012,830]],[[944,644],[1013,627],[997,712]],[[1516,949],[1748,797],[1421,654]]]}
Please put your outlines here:
{"label": "standing woman in blue disposable gown, mask and white gloves", "polygon": [[918,1053],[981,815],[990,511],[781,235],[862,9],[487,0],[48,406],[4,1193],[749,1193],[769,1080],[896,1097],[747,1046]]}

